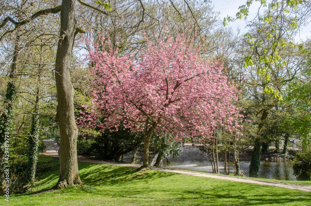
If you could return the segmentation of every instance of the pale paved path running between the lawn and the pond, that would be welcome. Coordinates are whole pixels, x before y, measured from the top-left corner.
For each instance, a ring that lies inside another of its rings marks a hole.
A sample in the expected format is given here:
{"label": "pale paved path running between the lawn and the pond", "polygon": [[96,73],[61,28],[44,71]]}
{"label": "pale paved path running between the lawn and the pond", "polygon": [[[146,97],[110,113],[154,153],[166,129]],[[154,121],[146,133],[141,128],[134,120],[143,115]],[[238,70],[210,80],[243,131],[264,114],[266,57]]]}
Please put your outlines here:
{"label": "pale paved path running between the lawn and the pond", "polygon": [[[55,153],[46,153],[45,155],[58,157],[58,154],[55,154]],[[136,164],[124,164],[124,163],[117,163],[117,162],[105,162],[105,161],[100,161],[100,160],[91,160],[91,159],[87,159],[86,157],[82,157],[82,156],[78,157],[78,162],[89,162],[89,163],[105,164],[105,165],[117,165],[117,166],[124,166],[124,167],[140,167],[141,166],[141,165],[136,165]],[[253,183],[253,184],[258,184],[258,185],[269,185],[269,186],[283,187],[283,188],[288,188],[288,189],[293,189],[293,190],[303,190],[303,191],[311,192],[311,186],[269,182],[269,181],[264,181],[264,180],[247,179],[243,177],[212,175],[212,174],[207,174],[207,173],[190,172],[190,171],[175,170],[175,169],[162,168],[162,167],[150,167],[150,168],[153,170],[159,170],[159,171],[164,171],[164,172],[174,172],[174,173],[179,173],[179,174],[184,174],[184,175],[209,177],[209,178],[230,180],[230,181],[236,181],[236,182]]]}

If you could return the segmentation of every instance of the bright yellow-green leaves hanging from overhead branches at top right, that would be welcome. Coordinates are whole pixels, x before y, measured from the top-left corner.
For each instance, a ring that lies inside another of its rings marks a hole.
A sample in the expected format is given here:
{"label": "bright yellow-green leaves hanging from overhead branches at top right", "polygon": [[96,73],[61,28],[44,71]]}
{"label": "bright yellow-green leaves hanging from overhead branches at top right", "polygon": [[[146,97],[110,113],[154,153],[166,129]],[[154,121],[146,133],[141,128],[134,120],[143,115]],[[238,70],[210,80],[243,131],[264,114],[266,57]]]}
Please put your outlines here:
{"label": "bright yellow-green leaves hanging from overhead branches at top right", "polygon": [[[263,77],[265,94],[271,94],[278,101],[282,101],[281,85],[271,84],[271,82],[278,81],[275,79],[277,73],[274,71],[275,68],[285,66],[288,63],[281,54],[284,47],[294,47],[307,54],[307,49],[303,44],[295,44],[293,41],[293,35],[300,25],[299,17],[295,12],[292,12],[298,10],[300,5],[306,1],[272,0],[268,3],[267,1],[255,0],[255,2],[257,1],[266,9],[263,14],[258,13],[257,20],[251,21],[258,24],[257,31],[254,34],[247,33],[244,35],[250,49],[253,49],[253,54],[248,54],[244,58],[244,67],[252,65],[257,67],[258,75]],[[235,18],[229,16],[224,18],[224,26],[227,25],[227,22],[237,19],[244,18],[246,20],[249,7],[253,2],[253,0],[248,0],[245,5],[240,6]]]}

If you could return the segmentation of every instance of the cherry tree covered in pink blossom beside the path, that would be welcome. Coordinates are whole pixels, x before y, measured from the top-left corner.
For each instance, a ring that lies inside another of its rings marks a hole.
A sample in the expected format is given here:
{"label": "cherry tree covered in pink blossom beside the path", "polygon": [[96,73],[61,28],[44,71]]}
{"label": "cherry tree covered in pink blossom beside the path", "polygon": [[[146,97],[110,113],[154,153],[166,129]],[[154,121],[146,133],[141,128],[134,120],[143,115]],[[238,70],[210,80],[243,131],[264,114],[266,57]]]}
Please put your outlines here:
{"label": "cherry tree covered in pink blossom beside the path", "polygon": [[[217,125],[230,131],[240,128],[238,92],[228,82],[217,60],[200,54],[184,35],[148,41],[139,60],[119,55],[101,37],[90,52],[94,107],[81,112],[80,128],[99,127],[117,131],[120,123],[144,132],[143,168],[149,166],[152,135],[174,134],[175,141],[211,138]],[[109,48],[108,52],[100,48]],[[99,123],[97,120],[104,118]]]}

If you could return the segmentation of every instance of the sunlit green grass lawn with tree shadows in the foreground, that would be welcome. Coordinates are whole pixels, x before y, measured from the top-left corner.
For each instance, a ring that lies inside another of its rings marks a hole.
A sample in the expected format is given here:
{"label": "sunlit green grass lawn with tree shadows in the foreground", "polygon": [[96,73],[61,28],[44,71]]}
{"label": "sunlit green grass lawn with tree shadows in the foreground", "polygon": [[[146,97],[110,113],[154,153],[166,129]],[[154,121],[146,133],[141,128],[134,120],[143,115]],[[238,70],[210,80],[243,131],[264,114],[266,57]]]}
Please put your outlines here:
{"label": "sunlit green grass lawn with tree shadows in the foreground", "polygon": [[[57,168],[58,160],[51,162]],[[79,168],[87,186],[35,194],[56,184],[58,170],[54,170],[41,176],[33,191],[12,195],[10,202],[2,197],[0,205],[311,206],[311,193],[298,190],[154,170],[134,172],[131,167],[79,163]]]}

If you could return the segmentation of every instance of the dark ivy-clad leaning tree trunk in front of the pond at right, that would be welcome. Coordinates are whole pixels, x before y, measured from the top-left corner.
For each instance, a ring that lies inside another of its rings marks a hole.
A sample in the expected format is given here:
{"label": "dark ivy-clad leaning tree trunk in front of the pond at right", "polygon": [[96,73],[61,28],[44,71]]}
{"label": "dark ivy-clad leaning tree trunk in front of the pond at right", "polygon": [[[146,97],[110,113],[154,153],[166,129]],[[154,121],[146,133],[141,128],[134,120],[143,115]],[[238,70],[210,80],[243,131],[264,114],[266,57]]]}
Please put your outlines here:
{"label": "dark ivy-clad leaning tree trunk in front of the pond at right", "polygon": [[257,134],[255,138],[253,153],[251,157],[251,163],[249,165],[249,176],[250,177],[258,177],[258,171],[260,167],[260,157],[261,157],[261,138],[260,138],[260,130],[263,126],[263,121],[268,116],[268,110],[264,109],[262,112],[262,116],[260,122],[258,124]]}

